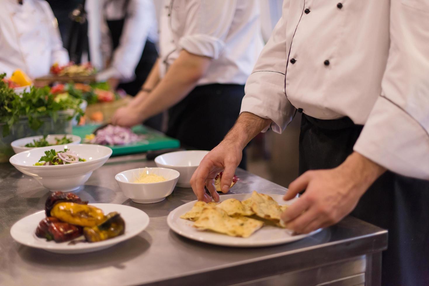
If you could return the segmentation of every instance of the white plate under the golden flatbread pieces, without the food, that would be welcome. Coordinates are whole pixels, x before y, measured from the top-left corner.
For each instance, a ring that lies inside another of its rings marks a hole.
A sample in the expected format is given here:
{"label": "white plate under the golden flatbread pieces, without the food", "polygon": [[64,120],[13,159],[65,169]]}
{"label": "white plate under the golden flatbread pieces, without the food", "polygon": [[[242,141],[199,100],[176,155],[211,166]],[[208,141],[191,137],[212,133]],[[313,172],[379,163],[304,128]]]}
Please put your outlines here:
{"label": "white plate under the golden flatbread pieces, without the food", "polygon": [[[233,194],[233,195],[224,195],[221,196],[220,202],[226,199],[238,199],[240,201],[248,199],[252,194]],[[283,200],[283,195],[272,195],[271,196],[279,205],[290,205],[296,199],[285,202]],[[167,217],[167,223],[169,227],[179,235],[182,235],[186,238],[190,238],[196,241],[205,242],[208,244],[217,244],[223,246],[231,247],[263,247],[277,244],[285,244],[292,241],[297,241],[299,239],[305,238],[309,235],[314,235],[317,232],[320,232],[321,229],[317,229],[314,232],[311,232],[306,235],[292,235],[292,232],[288,229],[281,229],[275,226],[263,226],[261,229],[257,230],[248,238],[239,238],[228,235],[222,235],[214,232],[199,231],[196,228],[192,227],[193,222],[190,220],[181,219],[180,216],[193,207],[196,201],[188,202],[187,204],[181,205],[175,210],[171,211]]]}

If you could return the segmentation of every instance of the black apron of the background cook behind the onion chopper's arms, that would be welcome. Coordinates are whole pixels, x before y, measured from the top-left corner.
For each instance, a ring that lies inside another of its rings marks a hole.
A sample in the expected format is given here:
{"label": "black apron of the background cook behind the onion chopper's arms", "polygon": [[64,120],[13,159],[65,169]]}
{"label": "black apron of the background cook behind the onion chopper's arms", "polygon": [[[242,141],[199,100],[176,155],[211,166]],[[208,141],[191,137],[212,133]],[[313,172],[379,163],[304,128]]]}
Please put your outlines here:
{"label": "black apron of the background cook behind the onion chopper's arms", "polygon": [[[125,19],[120,20],[106,20],[107,26],[109,27],[111,39],[112,39],[112,50],[114,51],[119,46],[119,41],[122,35],[122,29],[124,28]],[[158,58],[158,51],[153,42],[147,40],[145,48],[142,52],[142,57],[136,66],[135,74],[136,78],[133,81],[127,83],[121,83],[118,88],[122,88],[125,92],[131,96],[136,96],[142,85],[145,83],[146,78],[151,72],[152,66],[154,66]],[[146,126],[161,130],[162,128],[163,114],[157,114],[144,122]]]}

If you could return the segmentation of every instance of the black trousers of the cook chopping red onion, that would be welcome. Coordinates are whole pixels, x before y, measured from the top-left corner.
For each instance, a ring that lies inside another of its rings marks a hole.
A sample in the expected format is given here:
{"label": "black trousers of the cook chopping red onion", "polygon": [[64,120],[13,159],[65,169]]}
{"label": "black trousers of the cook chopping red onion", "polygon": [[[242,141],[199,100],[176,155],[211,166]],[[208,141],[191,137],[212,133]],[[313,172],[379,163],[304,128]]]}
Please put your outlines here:
{"label": "black trousers of the cook chopping red onion", "polygon": [[[167,135],[182,145],[211,150],[233,127],[244,96],[244,85],[207,84],[195,87],[169,109]],[[246,167],[246,152],[239,167]]]}

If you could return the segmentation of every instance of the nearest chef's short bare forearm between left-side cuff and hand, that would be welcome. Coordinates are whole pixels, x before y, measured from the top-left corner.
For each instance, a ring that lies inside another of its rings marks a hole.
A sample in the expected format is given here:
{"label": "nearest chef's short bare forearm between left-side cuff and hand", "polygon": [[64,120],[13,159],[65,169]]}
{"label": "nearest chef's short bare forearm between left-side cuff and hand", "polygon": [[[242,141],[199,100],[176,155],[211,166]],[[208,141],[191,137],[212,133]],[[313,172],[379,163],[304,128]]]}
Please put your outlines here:
{"label": "nearest chef's short bare forearm between left-side cuff and hand", "polygon": [[262,118],[250,112],[243,112],[222,142],[238,144],[240,148],[244,149],[271,122],[271,119]]}

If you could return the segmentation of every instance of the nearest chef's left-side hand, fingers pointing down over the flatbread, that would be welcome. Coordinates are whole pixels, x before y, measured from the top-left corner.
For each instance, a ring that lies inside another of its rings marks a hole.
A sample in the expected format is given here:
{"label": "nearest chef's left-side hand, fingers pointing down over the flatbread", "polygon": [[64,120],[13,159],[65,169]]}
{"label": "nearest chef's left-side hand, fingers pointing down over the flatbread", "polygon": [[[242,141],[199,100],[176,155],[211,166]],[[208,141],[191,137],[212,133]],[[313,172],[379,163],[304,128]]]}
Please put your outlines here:
{"label": "nearest chef's left-side hand, fingers pointing down over the flatbread", "polygon": [[198,200],[211,202],[210,196],[205,193],[205,185],[215,202],[218,202],[219,194],[215,188],[216,175],[224,171],[221,178],[221,190],[222,193],[227,193],[241,160],[242,148],[234,142],[222,141],[205,155],[190,179],[190,185]]}

